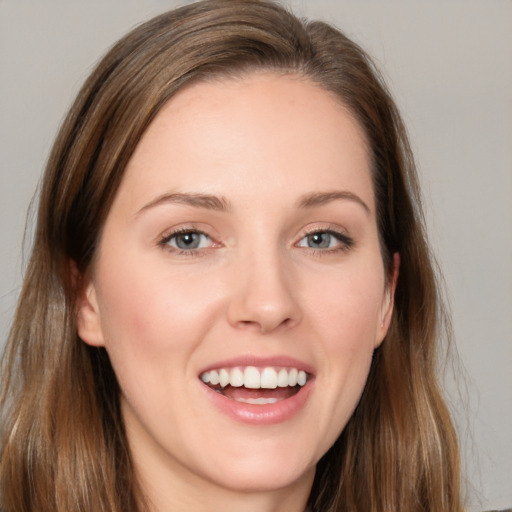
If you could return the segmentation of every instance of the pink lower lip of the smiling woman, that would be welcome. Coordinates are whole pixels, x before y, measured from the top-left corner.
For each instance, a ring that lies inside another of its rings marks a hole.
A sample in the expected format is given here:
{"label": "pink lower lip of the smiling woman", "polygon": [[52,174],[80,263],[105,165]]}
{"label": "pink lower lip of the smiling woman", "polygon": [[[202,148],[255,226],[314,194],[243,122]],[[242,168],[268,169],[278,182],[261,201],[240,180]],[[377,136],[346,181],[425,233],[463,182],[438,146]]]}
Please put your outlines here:
{"label": "pink lower lip of the smiling woman", "polygon": [[273,425],[291,419],[306,405],[313,388],[313,380],[310,380],[290,398],[273,404],[246,404],[228,398],[202,382],[200,384],[207,393],[208,399],[222,413],[236,421],[251,425]]}

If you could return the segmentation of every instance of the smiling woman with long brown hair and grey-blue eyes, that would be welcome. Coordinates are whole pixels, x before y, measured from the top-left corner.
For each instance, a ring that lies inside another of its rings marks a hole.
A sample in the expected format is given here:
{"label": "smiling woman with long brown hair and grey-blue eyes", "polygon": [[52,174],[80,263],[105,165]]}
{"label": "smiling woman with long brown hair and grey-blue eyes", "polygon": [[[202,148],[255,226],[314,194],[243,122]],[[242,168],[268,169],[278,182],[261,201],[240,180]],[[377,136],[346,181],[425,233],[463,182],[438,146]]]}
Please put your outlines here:
{"label": "smiling woman with long brown hair and grey-blue eyes", "polygon": [[405,130],[369,58],[206,1],[100,62],[4,355],[5,511],[459,511]]}

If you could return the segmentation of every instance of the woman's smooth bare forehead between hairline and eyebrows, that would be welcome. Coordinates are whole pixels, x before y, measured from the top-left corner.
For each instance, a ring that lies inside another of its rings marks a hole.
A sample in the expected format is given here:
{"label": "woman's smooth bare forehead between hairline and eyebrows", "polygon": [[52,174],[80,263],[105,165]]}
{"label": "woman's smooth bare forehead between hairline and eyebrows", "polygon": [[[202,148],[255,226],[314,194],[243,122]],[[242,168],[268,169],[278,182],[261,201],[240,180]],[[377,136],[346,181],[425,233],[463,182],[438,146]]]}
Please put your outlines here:
{"label": "woman's smooth bare forehead between hairline and eyebrows", "polygon": [[250,200],[263,184],[281,195],[362,186],[371,193],[359,123],[302,76],[258,72],[182,89],[143,135],[119,193],[137,202],[200,187]]}

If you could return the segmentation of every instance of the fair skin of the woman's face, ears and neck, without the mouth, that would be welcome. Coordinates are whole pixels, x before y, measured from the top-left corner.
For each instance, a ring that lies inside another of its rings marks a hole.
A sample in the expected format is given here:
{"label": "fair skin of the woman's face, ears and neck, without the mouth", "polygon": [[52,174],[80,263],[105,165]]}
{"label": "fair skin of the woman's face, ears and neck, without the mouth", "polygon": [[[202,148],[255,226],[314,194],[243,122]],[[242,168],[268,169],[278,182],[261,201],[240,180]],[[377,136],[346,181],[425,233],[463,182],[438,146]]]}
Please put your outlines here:
{"label": "fair skin of the woman's face, ears and neck, without the mouth", "polygon": [[[169,240],[180,228],[207,236],[183,253]],[[341,238],[311,244],[329,230]],[[303,511],[387,332],[397,273],[397,256],[383,268],[364,135],[334,96],[255,73],[170,100],[128,164],[79,313],[118,377],[151,510]],[[310,365],[304,406],[269,425],[220,411],[199,373],[238,356]]]}

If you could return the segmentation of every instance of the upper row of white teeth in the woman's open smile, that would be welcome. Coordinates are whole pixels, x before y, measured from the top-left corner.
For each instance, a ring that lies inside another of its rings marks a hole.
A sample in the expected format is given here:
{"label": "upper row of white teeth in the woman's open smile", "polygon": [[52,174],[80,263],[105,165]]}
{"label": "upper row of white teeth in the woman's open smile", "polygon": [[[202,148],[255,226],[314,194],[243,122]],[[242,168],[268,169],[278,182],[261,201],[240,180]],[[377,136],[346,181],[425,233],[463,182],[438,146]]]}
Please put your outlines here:
{"label": "upper row of white teeth in the woman's open smile", "polygon": [[212,386],[220,384],[222,388],[225,388],[229,384],[235,388],[244,386],[248,389],[275,389],[296,385],[302,387],[308,381],[308,375],[304,370],[298,370],[297,368],[276,369],[271,366],[262,369],[255,366],[219,368],[203,372],[200,378],[205,384],[211,384]]}

